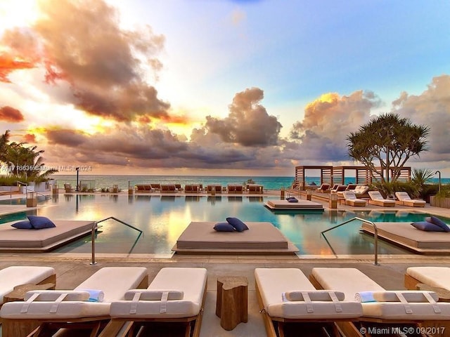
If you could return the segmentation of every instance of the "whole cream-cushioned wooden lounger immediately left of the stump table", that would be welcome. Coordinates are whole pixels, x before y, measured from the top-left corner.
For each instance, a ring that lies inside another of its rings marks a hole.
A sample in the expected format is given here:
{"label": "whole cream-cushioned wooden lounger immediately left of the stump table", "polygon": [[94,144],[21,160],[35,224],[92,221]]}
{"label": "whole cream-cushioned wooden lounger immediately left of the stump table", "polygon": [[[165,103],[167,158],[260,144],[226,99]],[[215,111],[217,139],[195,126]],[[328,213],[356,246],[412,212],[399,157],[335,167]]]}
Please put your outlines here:
{"label": "whole cream-cushioned wooden lounger immediately left of the stump table", "polygon": [[148,289],[127,291],[124,300],[111,303],[110,315],[113,319],[103,333],[105,336],[116,336],[113,331],[117,322],[128,321],[131,322],[128,330],[132,332],[145,329],[146,325],[154,331],[173,329],[176,324],[184,330],[183,336],[198,337],[206,288],[205,268],[162,268]]}

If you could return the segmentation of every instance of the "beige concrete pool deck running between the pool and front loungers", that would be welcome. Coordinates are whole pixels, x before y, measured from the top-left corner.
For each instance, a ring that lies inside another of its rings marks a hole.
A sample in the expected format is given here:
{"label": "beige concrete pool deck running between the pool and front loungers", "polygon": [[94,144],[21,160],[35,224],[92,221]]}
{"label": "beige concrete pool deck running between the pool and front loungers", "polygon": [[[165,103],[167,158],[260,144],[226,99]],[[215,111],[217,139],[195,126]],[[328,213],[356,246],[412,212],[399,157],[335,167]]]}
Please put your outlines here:
{"label": "beige concrete pool deck running between the pool and front loungers", "polygon": [[[264,194],[274,197],[278,194]],[[205,195],[205,194],[203,194]],[[15,195],[18,197],[18,195]],[[2,196],[0,199],[9,199]],[[0,213],[4,206],[1,205]],[[18,209],[18,208],[15,208]],[[14,210],[15,210],[14,209]],[[23,211],[30,208],[22,207]],[[11,210],[11,209],[10,209]],[[338,205],[338,210],[378,210],[379,206],[350,207]],[[424,211],[450,218],[450,209],[427,205],[425,209],[394,207],[389,211]],[[8,213],[7,211],[5,213]],[[205,267],[207,269],[207,298],[200,336],[265,336],[262,315],[255,293],[254,270],[257,267],[295,267],[309,276],[313,267],[356,267],[388,290],[405,289],[404,272],[407,267],[445,266],[450,267],[450,256],[392,255],[378,256],[379,265],[373,265],[373,256],[222,256],[195,255],[155,256],[154,254],[97,254],[96,265],[90,265],[90,254],[75,253],[0,253],[0,269],[11,265],[42,265],[56,270],[56,289],[73,289],[101,267],[143,266],[153,279],[162,267]],[[241,323],[231,331],[220,326],[215,315],[217,277],[224,275],[244,276],[248,279],[248,323]],[[0,334],[1,336],[1,334]]]}

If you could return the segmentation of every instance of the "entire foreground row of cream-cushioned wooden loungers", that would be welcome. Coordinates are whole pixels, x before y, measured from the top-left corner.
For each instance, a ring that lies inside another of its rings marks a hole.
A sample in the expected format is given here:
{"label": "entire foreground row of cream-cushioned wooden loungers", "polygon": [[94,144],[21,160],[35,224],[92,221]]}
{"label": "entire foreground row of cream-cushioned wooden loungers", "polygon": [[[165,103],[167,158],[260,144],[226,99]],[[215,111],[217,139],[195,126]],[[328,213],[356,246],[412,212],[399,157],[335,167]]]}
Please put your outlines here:
{"label": "entire foreground row of cream-cushioned wooden loungers", "polygon": [[[31,273],[33,267],[22,268]],[[41,269],[41,278],[51,269]],[[405,284],[409,277],[449,288],[449,267],[411,267],[406,273]],[[199,336],[207,270],[165,267],[147,284],[145,267],[103,267],[74,290],[29,291],[25,302],[1,307],[3,336],[26,336],[19,329],[24,324],[37,326],[30,336],[44,336],[62,326],[89,329],[91,336],[136,336],[138,331],[146,336],[143,329],[158,336],[155,329],[166,332],[176,324],[183,336]],[[439,302],[435,291],[387,291],[356,268],[314,267],[309,279],[297,268],[256,268],[255,289],[270,337],[300,336],[299,331],[360,337],[383,327],[419,331],[428,324],[447,327],[450,322],[450,303]],[[13,324],[18,326],[11,330]],[[449,334],[439,331],[435,336]]]}

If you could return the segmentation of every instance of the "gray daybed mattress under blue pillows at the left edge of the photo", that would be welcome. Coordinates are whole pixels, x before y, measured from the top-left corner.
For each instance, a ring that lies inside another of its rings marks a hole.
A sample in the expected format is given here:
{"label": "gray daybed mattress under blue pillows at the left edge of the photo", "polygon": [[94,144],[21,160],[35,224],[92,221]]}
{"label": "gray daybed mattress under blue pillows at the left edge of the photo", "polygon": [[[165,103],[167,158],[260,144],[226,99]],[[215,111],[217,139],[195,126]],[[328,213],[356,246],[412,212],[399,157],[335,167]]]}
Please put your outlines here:
{"label": "gray daybed mattress under blue pillows at the left edge of the photo", "polygon": [[0,225],[0,251],[48,251],[88,234],[94,225],[94,221],[53,220],[53,228],[20,230],[11,227],[15,222]]}

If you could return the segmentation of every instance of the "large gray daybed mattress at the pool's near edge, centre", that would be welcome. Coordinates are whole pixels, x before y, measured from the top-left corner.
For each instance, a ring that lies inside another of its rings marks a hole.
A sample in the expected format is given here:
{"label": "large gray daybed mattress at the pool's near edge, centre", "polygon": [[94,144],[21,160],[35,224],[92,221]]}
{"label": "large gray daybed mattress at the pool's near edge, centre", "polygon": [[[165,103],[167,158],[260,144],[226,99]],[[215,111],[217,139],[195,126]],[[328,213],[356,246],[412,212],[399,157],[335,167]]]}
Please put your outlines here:
{"label": "large gray daybed mattress at the pool's near edge, centre", "polygon": [[172,250],[204,252],[269,252],[293,253],[298,251],[272,223],[245,222],[243,232],[217,232],[216,222],[192,222],[176,241]]}

